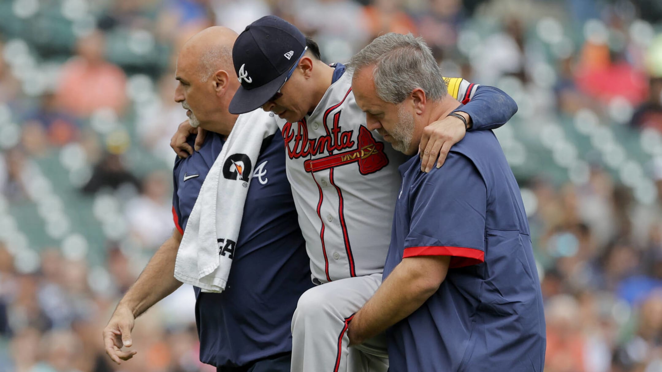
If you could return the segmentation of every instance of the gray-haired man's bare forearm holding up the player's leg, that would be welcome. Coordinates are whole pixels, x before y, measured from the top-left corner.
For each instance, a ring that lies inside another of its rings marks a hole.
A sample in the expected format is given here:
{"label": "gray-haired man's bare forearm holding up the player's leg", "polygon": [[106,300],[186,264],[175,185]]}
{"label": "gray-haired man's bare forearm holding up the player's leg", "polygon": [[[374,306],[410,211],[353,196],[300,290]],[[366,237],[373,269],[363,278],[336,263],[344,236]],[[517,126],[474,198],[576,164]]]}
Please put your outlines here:
{"label": "gray-haired man's bare forearm holding up the player's leg", "polygon": [[[448,267],[449,258],[439,257]],[[431,278],[424,267],[402,261],[352,318],[350,339],[366,340],[384,332],[418,309],[438,289],[444,275]]]}

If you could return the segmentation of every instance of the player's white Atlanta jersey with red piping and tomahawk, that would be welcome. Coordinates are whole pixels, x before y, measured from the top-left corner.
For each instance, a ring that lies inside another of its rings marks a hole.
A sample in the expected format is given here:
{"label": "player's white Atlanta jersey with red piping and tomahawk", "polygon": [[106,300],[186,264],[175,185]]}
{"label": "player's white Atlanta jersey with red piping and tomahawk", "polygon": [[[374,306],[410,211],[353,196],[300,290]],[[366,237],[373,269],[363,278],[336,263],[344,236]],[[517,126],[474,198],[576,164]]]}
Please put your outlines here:
{"label": "player's white Atlanta jersey with red piping and tomahawk", "polygon": [[[398,166],[407,159],[367,129],[352,76],[342,64],[332,66],[333,83],[314,111],[299,122],[279,120],[316,283],[381,273],[393,196],[401,184]],[[445,81],[449,93],[464,103],[479,87],[461,78]]]}

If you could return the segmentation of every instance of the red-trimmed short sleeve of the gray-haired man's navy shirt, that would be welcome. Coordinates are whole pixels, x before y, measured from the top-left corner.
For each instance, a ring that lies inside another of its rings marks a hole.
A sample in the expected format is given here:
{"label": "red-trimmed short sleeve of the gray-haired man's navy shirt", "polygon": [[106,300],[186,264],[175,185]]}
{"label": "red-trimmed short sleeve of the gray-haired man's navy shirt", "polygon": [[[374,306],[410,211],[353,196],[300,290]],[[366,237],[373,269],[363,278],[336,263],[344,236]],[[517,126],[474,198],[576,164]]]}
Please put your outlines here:
{"label": "red-trimmed short sleeve of the gray-haired man's navy shirt", "polygon": [[419,173],[409,203],[402,258],[452,256],[450,267],[484,261],[487,187],[471,160],[451,151],[444,167]]}

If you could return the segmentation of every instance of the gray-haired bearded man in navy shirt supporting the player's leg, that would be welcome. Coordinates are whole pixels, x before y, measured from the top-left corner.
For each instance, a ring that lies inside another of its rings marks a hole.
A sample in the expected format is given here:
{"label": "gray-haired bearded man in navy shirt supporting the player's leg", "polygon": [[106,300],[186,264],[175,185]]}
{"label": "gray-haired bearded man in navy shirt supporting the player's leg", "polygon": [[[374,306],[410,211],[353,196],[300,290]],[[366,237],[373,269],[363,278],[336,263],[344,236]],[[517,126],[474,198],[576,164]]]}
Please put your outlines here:
{"label": "gray-haired bearded man in navy shirt supporting the player's leg", "polygon": [[[411,34],[379,36],[351,66],[368,128],[404,154],[416,153],[422,128],[460,105],[436,89],[441,71]],[[352,318],[352,344],[393,326],[393,372],[542,371],[540,281],[520,190],[495,135],[467,133],[442,169],[424,173],[416,156],[400,169],[385,279]]]}

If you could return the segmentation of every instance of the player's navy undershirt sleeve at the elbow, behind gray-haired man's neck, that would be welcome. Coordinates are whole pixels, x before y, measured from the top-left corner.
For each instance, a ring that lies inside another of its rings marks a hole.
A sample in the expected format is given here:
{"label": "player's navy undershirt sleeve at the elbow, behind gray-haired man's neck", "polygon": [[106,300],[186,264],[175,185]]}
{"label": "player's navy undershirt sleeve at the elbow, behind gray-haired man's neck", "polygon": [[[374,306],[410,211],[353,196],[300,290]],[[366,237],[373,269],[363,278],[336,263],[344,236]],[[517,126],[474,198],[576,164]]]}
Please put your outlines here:
{"label": "player's navy undershirt sleeve at the elbow, behind gray-haired man's neck", "polygon": [[455,111],[471,116],[471,130],[496,129],[515,115],[517,103],[501,89],[480,85],[471,101]]}

